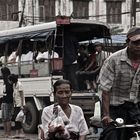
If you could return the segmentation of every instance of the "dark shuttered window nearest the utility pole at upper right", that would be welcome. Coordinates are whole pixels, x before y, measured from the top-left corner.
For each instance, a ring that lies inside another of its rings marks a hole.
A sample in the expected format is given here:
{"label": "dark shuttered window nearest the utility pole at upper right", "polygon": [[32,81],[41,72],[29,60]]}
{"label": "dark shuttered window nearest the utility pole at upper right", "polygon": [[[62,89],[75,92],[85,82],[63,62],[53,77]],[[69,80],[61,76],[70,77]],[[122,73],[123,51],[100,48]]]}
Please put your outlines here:
{"label": "dark shuttered window nearest the utility pole at upper right", "polygon": [[107,1],[107,23],[121,23],[121,1]]}

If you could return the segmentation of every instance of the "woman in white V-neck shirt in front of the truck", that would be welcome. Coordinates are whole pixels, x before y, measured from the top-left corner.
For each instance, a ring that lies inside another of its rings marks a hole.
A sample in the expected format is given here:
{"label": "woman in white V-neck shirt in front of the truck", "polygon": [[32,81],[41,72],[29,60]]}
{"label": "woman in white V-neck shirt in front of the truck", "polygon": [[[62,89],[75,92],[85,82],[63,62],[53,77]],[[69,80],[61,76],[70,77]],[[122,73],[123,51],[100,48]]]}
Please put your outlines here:
{"label": "woman in white V-neck shirt in front of the truck", "polygon": [[43,109],[42,129],[48,140],[85,140],[88,127],[79,106],[70,104],[72,86],[68,80],[54,84],[55,103]]}

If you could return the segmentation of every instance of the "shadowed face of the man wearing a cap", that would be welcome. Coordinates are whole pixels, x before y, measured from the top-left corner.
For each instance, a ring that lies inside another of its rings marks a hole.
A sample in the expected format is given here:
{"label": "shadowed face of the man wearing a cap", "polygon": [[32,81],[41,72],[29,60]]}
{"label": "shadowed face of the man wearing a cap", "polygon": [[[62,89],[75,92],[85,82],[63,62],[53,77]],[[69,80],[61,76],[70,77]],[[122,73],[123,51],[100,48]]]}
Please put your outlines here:
{"label": "shadowed face of the man wearing a cap", "polygon": [[128,48],[131,53],[135,54],[137,57],[140,57],[140,40],[129,41]]}

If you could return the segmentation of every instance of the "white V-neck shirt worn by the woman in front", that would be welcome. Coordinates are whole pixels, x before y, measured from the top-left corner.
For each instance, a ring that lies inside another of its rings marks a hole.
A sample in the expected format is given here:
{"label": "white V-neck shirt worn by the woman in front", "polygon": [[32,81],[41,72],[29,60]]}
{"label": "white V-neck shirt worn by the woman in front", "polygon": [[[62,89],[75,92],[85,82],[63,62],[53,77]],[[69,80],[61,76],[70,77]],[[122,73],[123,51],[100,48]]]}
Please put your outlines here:
{"label": "white V-neck shirt worn by the woman in front", "polygon": [[[78,132],[79,135],[87,135],[89,133],[88,127],[83,115],[83,111],[79,106],[69,104],[71,107],[71,114],[68,118],[63,110],[60,108],[59,116],[63,121],[68,120],[69,123],[65,125],[68,131]],[[44,130],[45,138],[48,136],[48,125],[52,121],[54,104],[47,106],[43,109],[42,113],[42,127]],[[67,122],[68,122],[67,121]]]}

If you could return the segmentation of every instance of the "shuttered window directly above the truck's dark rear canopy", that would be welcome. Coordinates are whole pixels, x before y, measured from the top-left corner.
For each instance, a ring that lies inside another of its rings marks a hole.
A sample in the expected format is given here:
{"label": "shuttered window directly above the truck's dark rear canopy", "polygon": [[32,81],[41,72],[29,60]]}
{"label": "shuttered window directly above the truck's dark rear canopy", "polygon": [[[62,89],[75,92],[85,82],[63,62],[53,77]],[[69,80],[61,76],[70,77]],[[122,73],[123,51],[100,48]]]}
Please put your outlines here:
{"label": "shuttered window directly above the truck's dark rear canopy", "polygon": [[86,18],[89,16],[89,0],[73,0],[74,18]]}

